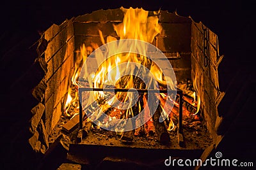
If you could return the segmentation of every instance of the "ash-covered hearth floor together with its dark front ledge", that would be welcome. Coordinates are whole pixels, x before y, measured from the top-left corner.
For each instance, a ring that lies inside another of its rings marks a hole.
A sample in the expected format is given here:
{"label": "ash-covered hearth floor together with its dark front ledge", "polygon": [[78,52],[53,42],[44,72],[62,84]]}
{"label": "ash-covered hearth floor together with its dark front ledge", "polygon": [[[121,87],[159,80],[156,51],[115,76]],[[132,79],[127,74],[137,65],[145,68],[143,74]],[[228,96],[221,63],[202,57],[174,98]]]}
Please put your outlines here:
{"label": "ash-covered hearth floor together with its dark front ledge", "polygon": [[[179,159],[199,159],[204,149],[212,145],[209,132],[184,129],[184,143],[180,147],[177,131],[170,131],[170,145],[161,145],[156,136],[135,136],[134,143],[122,143],[115,132],[92,129],[81,143],[75,140],[69,145],[67,159],[78,164],[102,164],[102,162],[136,162],[143,165],[161,165],[170,156]],[[73,132],[74,138],[76,132]],[[100,163],[101,162],[101,163]],[[125,163],[126,164],[126,163]]]}

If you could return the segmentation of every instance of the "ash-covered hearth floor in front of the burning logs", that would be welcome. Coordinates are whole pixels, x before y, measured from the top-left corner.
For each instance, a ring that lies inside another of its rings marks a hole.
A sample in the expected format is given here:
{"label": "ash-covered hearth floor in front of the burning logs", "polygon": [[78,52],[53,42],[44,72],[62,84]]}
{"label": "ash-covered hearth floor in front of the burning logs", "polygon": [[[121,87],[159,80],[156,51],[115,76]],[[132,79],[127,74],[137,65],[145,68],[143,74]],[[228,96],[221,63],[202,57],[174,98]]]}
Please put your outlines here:
{"label": "ash-covered hearth floor in front of the burning logs", "polygon": [[[209,132],[203,127],[196,131],[193,129],[184,129],[184,143],[185,147],[179,146],[177,138],[177,131],[169,131],[170,145],[162,145],[157,141],[156,134],[153,136],[135,136],[133,143],[124,143],[120,140],[120,136],[116,132],[106,131],[102,129],[92,129],[88,136],[86,136],[81,145],[104,145],[104,146],[122,146],[131,148],[156,148],[156,149],[180,149],[180,150],[204,150],[207,146],[212,144]],[[74,141],[74,140],[73,140]]]}

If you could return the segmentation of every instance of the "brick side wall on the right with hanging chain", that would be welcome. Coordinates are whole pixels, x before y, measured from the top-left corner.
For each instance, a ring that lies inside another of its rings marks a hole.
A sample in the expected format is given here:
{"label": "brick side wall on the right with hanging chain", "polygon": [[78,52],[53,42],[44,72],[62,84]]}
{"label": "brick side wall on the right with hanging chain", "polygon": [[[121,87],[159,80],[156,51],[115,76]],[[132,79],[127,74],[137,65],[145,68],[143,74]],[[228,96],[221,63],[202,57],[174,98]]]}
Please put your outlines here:
{"label": "brick side wall on the right with hanging chain", "polygon": [[196,77],[196,86],[201,99],[200,108],[204,113],[207,129],[216,143],[218,135],[215,124],[218,119],[218,104],[225,94],[220,92],[218,81],[218,65],[223,56],[219,55],[218,36],[201,22],[191,24],[191,52],[191,76],[193,81]]}

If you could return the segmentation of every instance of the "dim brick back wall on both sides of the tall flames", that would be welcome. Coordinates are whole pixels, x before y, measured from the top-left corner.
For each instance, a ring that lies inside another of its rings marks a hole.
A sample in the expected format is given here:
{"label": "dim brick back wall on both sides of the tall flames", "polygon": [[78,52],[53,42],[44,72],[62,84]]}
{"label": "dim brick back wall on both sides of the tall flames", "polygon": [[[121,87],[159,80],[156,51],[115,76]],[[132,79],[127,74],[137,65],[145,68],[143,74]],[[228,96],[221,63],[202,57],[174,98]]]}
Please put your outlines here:
{"label": "dim brick back wall on both sides of the tall flames", "polygon": [[[148,16],[150,15],[153,15],[152,11],[148,13]],[[120,9],[99,10],[77,17],[74,19],[75,49],[79,51],[83,43],[86,46],[90,46],[92,42],[99,46],[102,45],[99,30],[102,31],[104,39],[107,36],[118,38],[113,24],[122,22],[123,18],[124,13]],[[191,19],[168,13],[168,11],[160,11],[158,18],[163,31],[156,36],[152,45],[157,46],[170,59],[177,81],[190,79]],[[177,52],[179,52],[179,58],[176,55],[173,57],[173,53]]]}

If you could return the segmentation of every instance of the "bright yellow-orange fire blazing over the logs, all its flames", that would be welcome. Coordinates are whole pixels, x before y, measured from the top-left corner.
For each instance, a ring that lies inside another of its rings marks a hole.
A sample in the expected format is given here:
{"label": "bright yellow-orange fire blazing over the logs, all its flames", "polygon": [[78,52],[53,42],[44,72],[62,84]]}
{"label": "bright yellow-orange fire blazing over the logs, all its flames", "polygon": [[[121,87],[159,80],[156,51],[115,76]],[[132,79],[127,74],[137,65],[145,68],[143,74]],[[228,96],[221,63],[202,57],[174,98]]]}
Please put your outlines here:
{"label": "bright yellow-orange fire blazing over the logs, all its flames", "polygon": [[[157,13],[154,13],[154,16],[148,17],[148,11],[145,11],[142,8],[121,8],[121,10],[124,11],[124,21],[120,24],[113,25],[113,28],[120,39],[138,39],[141,41],[146,41],[147,43],[152,43],[157,34],[161,33],[162,27],[158,23]],[[104,45],[112,41],[115,42],[117,40],[117,38],[113,36],[104,37],[102,31],[100,30],[99,36],[102,44]],[[92,52],[92,49],[97,49],[98,47],[99,45],[95,43],[92,43],[92,46],[81,46],[81,55],[77,58],[75,63],[75,70],[71,79],[71,87],[78,86],[77,78],[81,72],[81,66],[86,64],[85,61],[88,55]],[[143,72],[148,69],[151,75],[147,75],[148,79],[150,79],[150,83],[153,83],[153,78],[157,81],[157,84],[153,84],[154,89],[166,89],[167,85],[170,86],[170,89],[176,88],[176,82],[173,82],[170,77],[164,76],[163,71],[154,61],[149,59],[147,56],[140,55],[138,53],[116,52],[122,48],[124,48],[124,46],[120,46],[117,43],[115,46],[109,46],[107,52],[111,57],[108,57],[108,59],[104,58],[103,53],[95,53],[95,59],[98,64],[97,66],[99,67],[94,73],[90,73],[89,70],[83,70],[83,75],[86,75],[87,80],[90,80],[88,81],[87,85],[84,85],[84,87],[93,87],[99,89],[104,89],[106,87],[111,89],[149,89],[149,87],[147,87],[147,85],[145,85],[145,83],[143,83],[143,81],[139,78],[140,71]],[[136,48],[141,53],[145,53],[145,51],[147,51],[147,48],[145,46],[141,46],[140,44],[131,45],[129,48]],[[101,62],[102,60],[104,62]],[[193,82],[196,82],[196,78]],[[194,84],[194,87],[196,89],[196,93],[193,95],[195,96],[194,101],[197,99],[196,113],[198,113],[200,108],[200,97],[196,96],[196,94],[198,94],[196,83]],[[72,94],[72,92],[74,93],[74,90],[68,90],[67,102],[65,104],[65,113],[68,115],[68,117],[72,117],[77,113],[77,110],[72,113],[73,115],[68,113],[70,106],[73,106],[76,109],[79,106],[79,97],[77,95],[77,91],[75,92],[75,95]],[[111,106],[115,106],[112,117],[108,118],[108,120],[102,120],[101,122],[98,122],[97,125],[110,126],[111,122],[115,122],[116,118],[131,118],[138,115],[141,110],[145,110],[145,117],[149,119],[147,122],[147,127],[154,126],[152,119],[150,119],[150,110],[147,106],[147,95],[145,94],[134,94],[133,92],[116,92],[115,94],[109,96],[109,94],[106,94],[102,91],[93,91],[93,96],[94,99],[88,99],[87,103],[90,104],[92,101],[95,101],[95,99],[97,101],[103,101],[100,103],[100,108],[102,110],[108,110],[111,108]],[[170,96],[166,96],[166,94],[160,94],[159,98],[161,101],[161,108],[163,109],[162,114],[167,115],[169,118],[168,131],[172,131],[172,129],[175,127],[172,121],[172,114],[170,114],[172,111],[164,110],[164,105],[174,104],[175,106],[179,107],[179,103],[177,103],[175,100],[172,100]],[[134,103],[133,101],[136,102]],[[119,102],[125,104],[120,104]],[[99,118],[100,114],[101,112],[99,111],[98,115],[93,115],[93,117]],[[94,120],[94,118],[92,119]]]}

